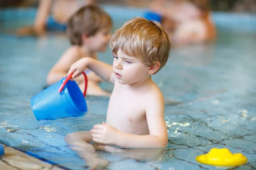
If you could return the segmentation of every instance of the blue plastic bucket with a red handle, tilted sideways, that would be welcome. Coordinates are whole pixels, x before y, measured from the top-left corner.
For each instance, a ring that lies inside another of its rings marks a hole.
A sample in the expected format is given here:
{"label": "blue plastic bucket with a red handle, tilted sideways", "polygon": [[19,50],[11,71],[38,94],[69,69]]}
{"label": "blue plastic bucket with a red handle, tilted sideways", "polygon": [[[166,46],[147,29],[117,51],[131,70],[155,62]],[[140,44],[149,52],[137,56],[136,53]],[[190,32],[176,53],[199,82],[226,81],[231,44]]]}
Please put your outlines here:
{"label": "blue plastic bucket with a red handle, tilted sideways", "polygon": [[87,76],[85,78],[84,94],[75,81],[71,81],[72,74],[31,98],[32,111],[37,120],[55,120],[66,117],[83,116],[87,111],[84,99],[87,90]]}

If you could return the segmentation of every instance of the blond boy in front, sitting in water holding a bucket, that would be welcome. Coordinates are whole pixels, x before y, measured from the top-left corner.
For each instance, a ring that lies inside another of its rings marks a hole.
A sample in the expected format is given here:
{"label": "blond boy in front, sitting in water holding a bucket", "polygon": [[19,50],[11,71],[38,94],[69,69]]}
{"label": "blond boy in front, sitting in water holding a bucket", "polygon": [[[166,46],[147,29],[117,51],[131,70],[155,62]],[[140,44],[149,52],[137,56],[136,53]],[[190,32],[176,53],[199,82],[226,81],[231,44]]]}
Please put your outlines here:
{"label": "blond boy in front, sitting in water holding a bucket", "polygon": [[114,84],[106,123],[94,125],[90,132],[71,133],[65,138],[90,166],[95,165],[93,162],[101,164],[102,160],[94,152],[109,151],[108,145],[130,152],[127,148],[159,149],[168,142],[163,94],[151,79],[169,58],[168,34],[160,23],[135,17],[114,32],[110,46],[113,66],[86,57],[71,65],[68,71],[68,75],[73,73],[76,78],[88,68]]}

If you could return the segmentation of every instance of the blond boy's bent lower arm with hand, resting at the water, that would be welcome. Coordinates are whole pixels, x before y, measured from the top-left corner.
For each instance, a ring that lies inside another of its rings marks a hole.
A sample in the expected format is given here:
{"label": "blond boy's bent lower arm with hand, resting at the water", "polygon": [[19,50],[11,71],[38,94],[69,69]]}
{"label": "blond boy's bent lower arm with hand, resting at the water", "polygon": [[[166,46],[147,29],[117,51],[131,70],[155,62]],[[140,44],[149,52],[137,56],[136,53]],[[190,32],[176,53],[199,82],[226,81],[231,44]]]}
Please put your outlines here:
{"label": "blond boy's bent lower arm with hand, resting at the water", "polygon": [[167,127],[164,120],[164,99],[161,93],[150,96],[146,104],[146,118],[150,135],[123,133],[105,123],[94,125],[93,140],[121,147],[166,147]]}

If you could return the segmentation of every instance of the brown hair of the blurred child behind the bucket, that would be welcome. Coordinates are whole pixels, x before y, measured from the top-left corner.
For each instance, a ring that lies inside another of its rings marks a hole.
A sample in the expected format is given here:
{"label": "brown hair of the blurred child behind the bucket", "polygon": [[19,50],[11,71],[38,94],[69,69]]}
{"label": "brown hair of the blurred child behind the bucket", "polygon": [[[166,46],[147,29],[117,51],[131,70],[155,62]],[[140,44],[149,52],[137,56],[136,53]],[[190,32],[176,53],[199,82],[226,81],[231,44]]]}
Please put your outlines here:
{"label": "brown hair of the blurred child behind the bucket", "polygon": [[82,35],[95,35],[103,28],[112,27],[111,17],[99,6],[80,8],[68,21],[67,34],[72,45],[82,45]]}

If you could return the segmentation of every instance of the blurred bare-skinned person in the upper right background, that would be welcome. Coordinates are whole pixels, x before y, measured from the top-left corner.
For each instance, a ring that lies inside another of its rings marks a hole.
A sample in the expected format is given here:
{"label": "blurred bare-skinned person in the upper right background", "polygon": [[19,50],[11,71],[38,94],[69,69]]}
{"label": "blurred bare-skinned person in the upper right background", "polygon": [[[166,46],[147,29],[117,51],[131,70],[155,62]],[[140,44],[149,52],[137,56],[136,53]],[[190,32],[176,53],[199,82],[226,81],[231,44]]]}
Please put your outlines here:
{"label": "blurred bare-skinned person in the upper right background", "polygon": [[175,45],[186,45],[215,40],[208,3],[208,0],[153,0],[150,10],[161,17],[159,20]]}

